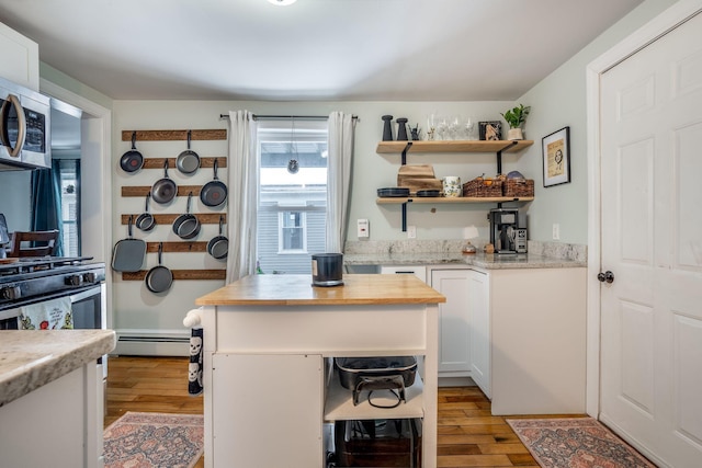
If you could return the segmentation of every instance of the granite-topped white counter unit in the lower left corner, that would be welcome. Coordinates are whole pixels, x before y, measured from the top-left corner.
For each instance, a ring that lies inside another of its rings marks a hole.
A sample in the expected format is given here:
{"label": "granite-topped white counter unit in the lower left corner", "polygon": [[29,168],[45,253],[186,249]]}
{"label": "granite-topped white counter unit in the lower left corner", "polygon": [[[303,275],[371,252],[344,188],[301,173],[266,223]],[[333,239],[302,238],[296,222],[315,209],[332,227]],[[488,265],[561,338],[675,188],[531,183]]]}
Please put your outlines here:
{"label": "granite-topped white counter unit in the lower left corner", "polygon": [[97,359],[112,330],[0,331],[0,453],[8,467],[101,467]]}

